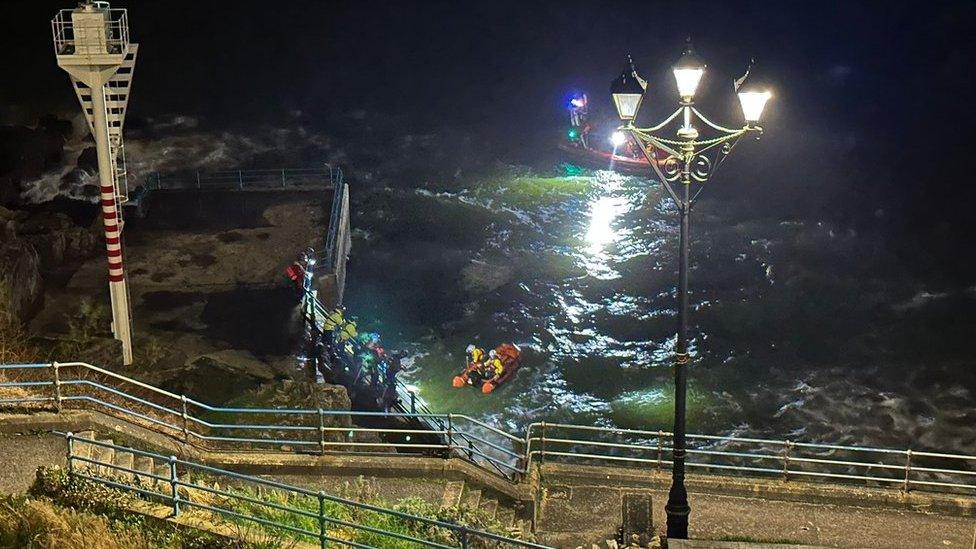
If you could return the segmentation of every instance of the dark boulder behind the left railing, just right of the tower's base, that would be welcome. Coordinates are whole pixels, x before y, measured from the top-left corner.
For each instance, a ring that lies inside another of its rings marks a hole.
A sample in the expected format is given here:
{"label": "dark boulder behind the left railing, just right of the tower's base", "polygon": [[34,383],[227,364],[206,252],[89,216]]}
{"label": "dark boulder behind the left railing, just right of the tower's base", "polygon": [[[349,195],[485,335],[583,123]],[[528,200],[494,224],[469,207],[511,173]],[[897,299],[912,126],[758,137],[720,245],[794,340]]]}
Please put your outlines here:
{"label": "dark boulder behind the left railing, just right of the tower's base", "polygon": [[274,379],[275,371],[251,353],[228,349],[186,361],[179,375],[163,387],[208,404],[222,404]]}

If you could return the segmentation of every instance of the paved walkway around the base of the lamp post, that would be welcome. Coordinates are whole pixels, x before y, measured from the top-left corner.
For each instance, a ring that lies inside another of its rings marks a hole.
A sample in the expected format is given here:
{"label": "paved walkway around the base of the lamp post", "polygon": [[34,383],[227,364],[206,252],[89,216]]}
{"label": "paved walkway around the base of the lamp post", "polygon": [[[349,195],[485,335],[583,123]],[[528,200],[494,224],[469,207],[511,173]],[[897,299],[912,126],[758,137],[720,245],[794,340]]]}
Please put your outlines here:
{"label": "paved walkway around the base of the lamp post", "polygon": [[[622,522],[623,494],[650,494],[654,526],[664,530],[665,490],[547,483],[540,541],[575,547],[607,539]],[[973,547],[976,519],[900,509],[776,501],[690,493],[690,535],[827,547]],[[589,545],[585,545],[589,546]]]}

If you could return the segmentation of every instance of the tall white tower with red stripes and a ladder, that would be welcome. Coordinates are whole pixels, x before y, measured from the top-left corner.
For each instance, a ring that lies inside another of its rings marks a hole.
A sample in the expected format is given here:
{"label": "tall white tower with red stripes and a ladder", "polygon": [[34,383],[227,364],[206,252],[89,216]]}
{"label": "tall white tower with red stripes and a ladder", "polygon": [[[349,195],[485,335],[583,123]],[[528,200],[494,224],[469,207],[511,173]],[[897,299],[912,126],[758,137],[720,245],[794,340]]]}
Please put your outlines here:
{"label": "tall white tower with red stripes and a ladder", "polygon": [[129,100],[137,44],[129,42],[125,10],[86,1],[61,10],[51,21],[58,66],[68,72],[98,152],[112,332],[122,342],[122,362],[132,364],[132,320],[122,251],[121,204],[127,199],[122,126]]}

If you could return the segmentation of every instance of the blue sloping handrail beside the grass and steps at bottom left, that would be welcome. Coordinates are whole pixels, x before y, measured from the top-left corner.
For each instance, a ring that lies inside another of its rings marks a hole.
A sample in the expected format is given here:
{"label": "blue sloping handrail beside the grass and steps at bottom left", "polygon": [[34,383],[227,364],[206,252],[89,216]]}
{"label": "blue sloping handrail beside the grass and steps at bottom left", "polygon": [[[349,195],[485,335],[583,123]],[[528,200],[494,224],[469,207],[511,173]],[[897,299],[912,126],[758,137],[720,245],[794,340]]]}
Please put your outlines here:
{"label": "blue sloping handrail beside the grass and steps at bottom left", "polygon": [[[220,469],[217,467],[204,465],[202,463],[179,459],[175,456],[163,456],[153,452],[147,452],[145,450],[138,450],[135,448],[120,446],[111,442],[105,442],[105,441],[89,439],[89,438],[79,438],[73,435],[72,433],[66,433],[65,438],[68,443],[67,463],[68,463],[68,474],[70,476],[88,479],[90,481],[97,482],[100,484],[105,484],[107,486],[111,486],[113,488],[117,488],[121,490],[133,491],[143,496],[148,496],[150,498],[152,497],[158,498],[162,501],[169,503],[169,505],[173,509],[174,517],[179,516],[184,507],[196,507],[219,515],[231,516],[241,520],[249,520],[271,528],[280,528],[301,536],[308,536],[311,538],[315,538],[320,541],[322,547],[326,546],[327,541],[339,542],[342,544],[348,544],[355,547],[369,547],[353,541],[343,540],[340,538],[330,536],[328,525],[334,524],[334,525],[339,525],[347,528],[352,528],[354,530],[360,530],[364,532],[378,534],[385,537],[390,537],[397,540],[417,543],[426,547],[437,547],[437,548],[445,548],[445,549],[453,549],[453,547],[465,548],[468,546],[468,543],[470,541],[476,540],[478,538],[484,538],[492,541],[498,541],[498,542],[510,544],[517,547],[548,549],[548,546],[545,545],[540,545],[537,543],[532,543],[529,541],[515,539],[515,538],[509,538],[498,534],[493,534],[491,532],[486,532],[483,530],[468,528],[463,524],[444,522],[442,520],[438,520],[434,518],[412,515],[409,513],[403,513],[401,511],[387,509],[384,507],[379,507],[377,505],[371,505],[368,503],[362,503],[359,501],[343,498],[340,496],[326,494],[323,491],[313,492],[311,490],[307,490],[304,488],[292,486],[289,484],[277,482],[266,478],[243,475],[240,473],[235,473],[233,471],[228,471],[226,469]],[[169,476],[163,477],[151,472],[147,473],[143,471],[138,471],[130,467],[118,465],[112,461],[99,461],[96,459],[87,458],[83,455],[77,455],[75,453],[75,446],[77,444],[89,444],[92,446],[98,446],[100,448],[111,449],[113,452],[129,452],[136,456],[150,458],[155,463],[168,464]],[[75,462],[95,465],[97,467],[95,468],[94,471],[92,471],[91,468],[88,468],[86,472],[82,472],[77,470],[75,466]],[[179,474],[181,469],[183,470],[183,475]],[[110,473],[105,474],[102,473],[102,471],[110,471]],[[219,488],[219,485],[221,484],[225,486],[231,484],[229,482],[221,481],[214,484],[214,486],[207,486],[206,484],[193,482],[193,479],[187,474],[190,471],[199,471],[202,473],[206,473],[207,475],[210,475],[212,477],[217,477],[219,479],[229,479],[231,481],[246,482],[251,485],[268,487],[277,490],[279,492],[287,493],[290,496],[304,496],[313,500],[317,500],[318,512],[313,513],[305,509],[299,509],[288,505],[279,505],[259,498],[249,497],[240,492],[231,492]],[[115,472],[122,472],[129,475],[139,475],[139,476],[146,476],[149,478],[153,478],[155,480],[166,483],[170,487],[170,489],[167,491],[168,493],[164,493],[162,491],[146,489],[141,486],[135,486],[124,482],[118,482],[117,479],[121,478],[122,475],[115,474]],[[221,507],[220,499],[215,499],[212,505],[195,502],[189,497],[184,498],[183,496],[181,496],[179,492],[180,488],[190,488],[193,490],[200,490],[202,492],[207,492],[209,494],[213,494],[217,496],[223,496],[225,498],[233,498],[233,499],[247,501],[248,503],[254,505],[268,507],[270,509],[274,509],[276,511],[281,511],[284,513],[290,513],[290,514],[294,514],[306,518],[317,519],[319,524],[319,530],[317,532],[313,532],[310,530],[305,530],[304,528],[296,528],[294,526],[291,526],[289,524],[284,524],[279,521],[256,517],[253,515],[247,515],[244,513],[239,513],[232,509]],[[393,532],[383,528],[367,526],[365,524],[344,520],[335,516],[329,516],[325,512],[326,509],[324,505],[325,502],[339,504],[347,508],[356,508],[364,511],[380,513],[383,515],[395,517],[400,520],[421,523],[429,527],[444,529],[451,532],[458,539],[458,545],[457,546],[444,545],[428,539],[405,535],[399,532]]]}

